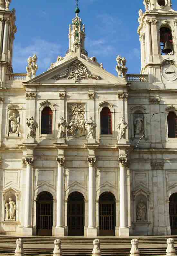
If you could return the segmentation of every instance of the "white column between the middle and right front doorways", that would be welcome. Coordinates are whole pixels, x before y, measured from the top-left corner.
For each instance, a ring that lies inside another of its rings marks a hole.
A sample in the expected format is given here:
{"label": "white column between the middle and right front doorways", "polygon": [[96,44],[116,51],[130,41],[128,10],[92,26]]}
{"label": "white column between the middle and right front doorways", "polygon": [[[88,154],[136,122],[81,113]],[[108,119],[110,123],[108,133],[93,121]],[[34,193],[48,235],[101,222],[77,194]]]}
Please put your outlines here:
{"label": "white column between the middle and right front doorways", "polygon": [[88,158],[88,229],[87,236],[97,236],[96,228],[96,158]]}

